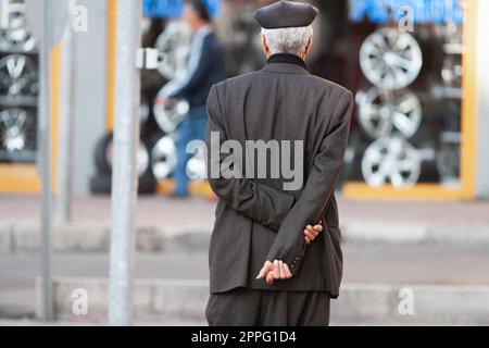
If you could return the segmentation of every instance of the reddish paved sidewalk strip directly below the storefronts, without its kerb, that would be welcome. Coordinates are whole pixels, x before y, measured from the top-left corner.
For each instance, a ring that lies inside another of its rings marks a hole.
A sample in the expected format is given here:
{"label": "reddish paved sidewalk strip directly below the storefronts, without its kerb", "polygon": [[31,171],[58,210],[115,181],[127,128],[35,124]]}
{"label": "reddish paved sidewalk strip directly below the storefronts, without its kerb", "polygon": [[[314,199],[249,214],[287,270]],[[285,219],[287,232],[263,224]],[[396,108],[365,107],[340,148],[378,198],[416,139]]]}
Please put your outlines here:
{"label": "reddish paved sidewalk strip directly below the storefronts, without its kerb", "polygon": [[[338,199],[341,221],[383,221],[393,223],[486,224],[489,225],[489,201],[480,202],[406,202],[353,201]],[[40,202],[36,196],[0,196],[0,221],[27,220],[37,222]],[[110,220],[109,197],[77,197],[74,199],[75,223]],[[205,199],[172,200],[161,196],[139,197],[137,223],[142,226],[208,223],[215,202]]]}

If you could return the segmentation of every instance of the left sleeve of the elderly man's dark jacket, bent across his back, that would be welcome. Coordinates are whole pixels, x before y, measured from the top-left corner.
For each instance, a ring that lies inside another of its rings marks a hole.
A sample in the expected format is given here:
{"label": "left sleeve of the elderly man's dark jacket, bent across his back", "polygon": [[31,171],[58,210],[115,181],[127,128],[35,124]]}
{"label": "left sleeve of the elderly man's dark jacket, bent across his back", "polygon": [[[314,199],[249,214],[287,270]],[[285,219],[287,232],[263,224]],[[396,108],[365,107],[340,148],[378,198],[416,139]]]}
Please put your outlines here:
{"label": "left sleeve of the elderly man's dark jacket, bent across his back", "polygon": [[[229,207],[242,213],[247,217],[277,232],[284,219],[292,208],[294,198],[283,191],[276,190],[266,185],[261,185],[252,179],[244,178],[243,175],[230,176],[222,175],[223,163],[233,162],[234,153],[211,153],[212,135],[218,135],[221,147],[228,140],[224,123],[222,122],[222,110],[218,99],[217,88],[212,87],[208,100],[209,125],[206,130],[208,146],[208,177],[213,191],[223,199]],[[215,147],[215,145],[214,145]],[[216,171],[217,174],[216,175]],[[242,170],[240,170],[242,174]]]}

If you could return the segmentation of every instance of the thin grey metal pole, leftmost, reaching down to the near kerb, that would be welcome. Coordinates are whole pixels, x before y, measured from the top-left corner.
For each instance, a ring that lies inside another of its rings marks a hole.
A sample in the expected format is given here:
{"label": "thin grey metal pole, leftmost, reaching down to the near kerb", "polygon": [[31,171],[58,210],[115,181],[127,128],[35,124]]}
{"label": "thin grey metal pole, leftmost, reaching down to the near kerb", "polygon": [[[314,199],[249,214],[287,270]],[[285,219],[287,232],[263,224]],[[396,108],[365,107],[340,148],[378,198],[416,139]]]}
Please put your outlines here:
{"label": "thin grey metal pole, leftmost, reaching down to the near kerb", "polygon": [[50,9],[48,2],[42,0],[40,21],[42,39],[39,48],[40,55],[40,92],[39,92],[39,156],[41,189],[41,229],[42,229],[42,285],[41,285],[41,320],[51,321],[53,319],[52,288],[51,288],[51,108],[50,108],[50,45],[48,37],[50,21]]}

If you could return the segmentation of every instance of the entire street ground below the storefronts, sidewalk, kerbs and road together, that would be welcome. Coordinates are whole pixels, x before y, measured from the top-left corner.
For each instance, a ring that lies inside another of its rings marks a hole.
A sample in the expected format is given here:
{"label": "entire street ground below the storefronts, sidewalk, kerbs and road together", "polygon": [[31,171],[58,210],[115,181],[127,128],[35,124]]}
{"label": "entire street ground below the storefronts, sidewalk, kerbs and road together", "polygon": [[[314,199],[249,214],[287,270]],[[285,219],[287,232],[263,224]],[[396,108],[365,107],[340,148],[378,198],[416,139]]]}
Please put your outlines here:
{"label": "entire street ground below the storefronts, sidewalk, kerbs and road together", "polygon": [[[339,208],[344,278],[333,324],[489,325],[489,202],[340,199]],[[215,202],[201,199],[139,199],[137,323],[204,324],[214,209]],[[0,197],[0,320],[36,324],[38,219],[36,197]],[[104,323],[109,233],[105,197],[77,198],[73,224],[55,228],[54,296],[62,323]],[[77,287],[95,299],[93,316],[82,321],[70,312]],[[397,314],[403,288],[415,294],[414,318]]]}

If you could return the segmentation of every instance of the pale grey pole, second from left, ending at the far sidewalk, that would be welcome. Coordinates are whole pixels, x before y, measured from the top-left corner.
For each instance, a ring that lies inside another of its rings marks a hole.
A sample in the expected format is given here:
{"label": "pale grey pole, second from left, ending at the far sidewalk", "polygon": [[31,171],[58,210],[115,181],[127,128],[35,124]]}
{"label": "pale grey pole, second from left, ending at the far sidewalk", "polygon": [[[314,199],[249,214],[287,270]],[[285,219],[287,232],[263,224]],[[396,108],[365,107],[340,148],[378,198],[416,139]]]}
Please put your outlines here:
{"label": "pale grey pole, second from left, ending at the far sidewalk", "polygon": [[58,158],[58,192],[55,202],[57,222],[65,225],[71,220],[72,172],[73,172],[73,32],[72,9],[75,1],[70,0],[66,8],[68,14],[62,46],[61,61],[61,105],[60,105],[60,140]]}

